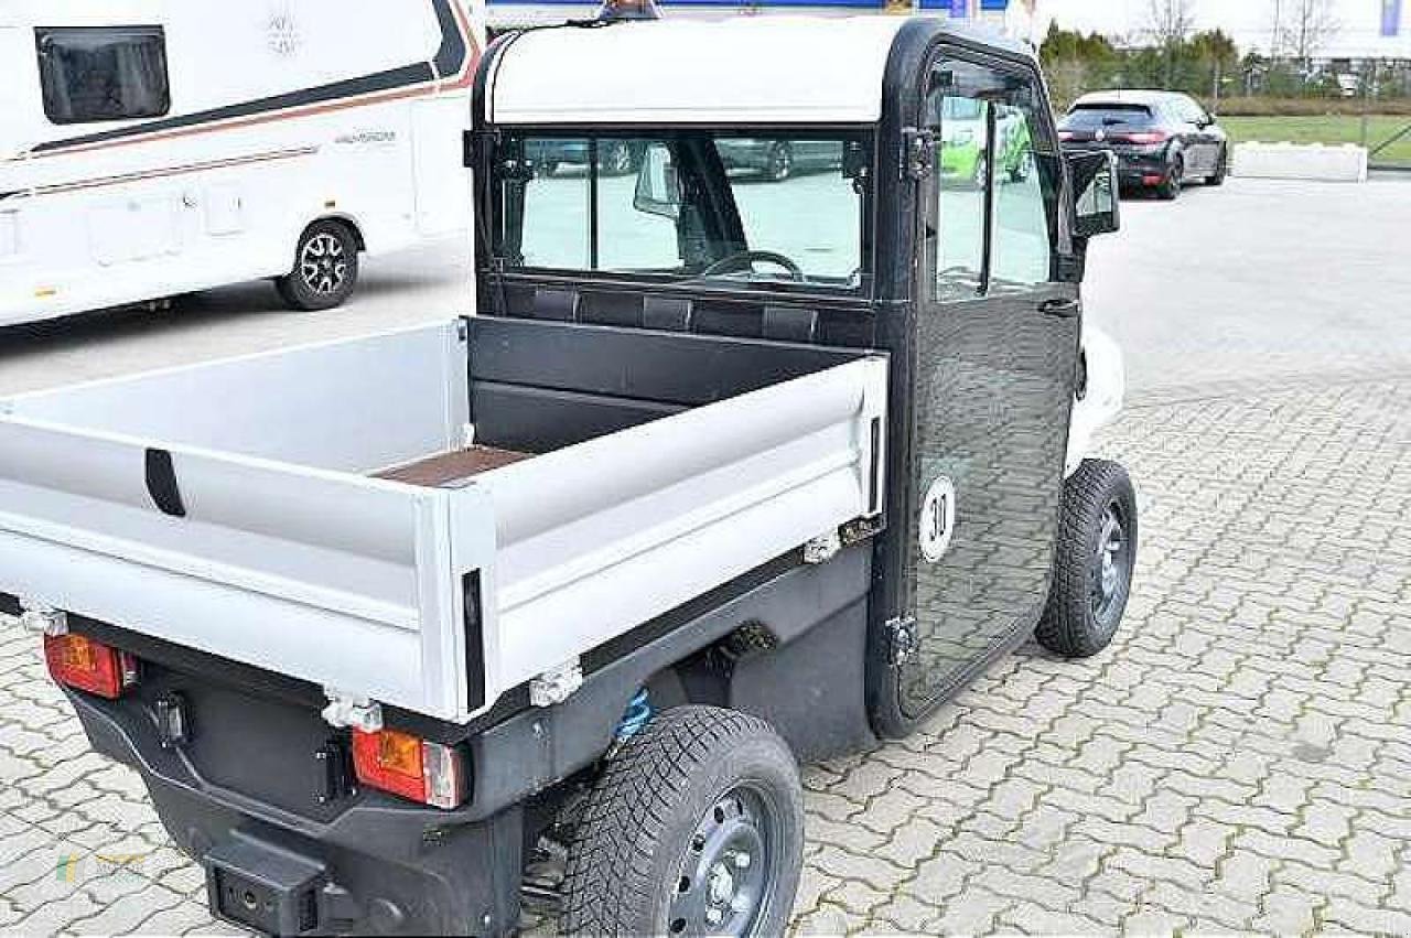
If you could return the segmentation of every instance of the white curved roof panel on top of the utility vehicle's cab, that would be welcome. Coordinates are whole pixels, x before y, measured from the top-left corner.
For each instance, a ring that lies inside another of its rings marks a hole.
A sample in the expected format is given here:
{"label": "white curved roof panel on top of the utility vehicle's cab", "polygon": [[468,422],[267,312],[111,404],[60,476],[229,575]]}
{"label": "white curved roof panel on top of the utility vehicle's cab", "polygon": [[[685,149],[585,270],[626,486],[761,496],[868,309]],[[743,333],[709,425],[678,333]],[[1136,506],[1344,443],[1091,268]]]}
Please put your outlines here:
{"label": "white curved roof panel on top of the utility vehicle's cab", "polygon": [[497,124],[872,123],[906,17],[655,20],[533,30],[490,76]]}

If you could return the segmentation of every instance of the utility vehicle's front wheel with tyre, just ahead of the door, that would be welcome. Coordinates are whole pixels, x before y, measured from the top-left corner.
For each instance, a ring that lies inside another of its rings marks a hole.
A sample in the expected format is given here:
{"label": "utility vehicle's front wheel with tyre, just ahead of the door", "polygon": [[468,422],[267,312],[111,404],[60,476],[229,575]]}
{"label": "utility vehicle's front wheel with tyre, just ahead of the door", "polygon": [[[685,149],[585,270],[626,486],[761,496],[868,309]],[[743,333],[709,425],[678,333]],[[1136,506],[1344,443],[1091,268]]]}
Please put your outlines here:
{"label": "utility vehicle's front wheel with tyre, just ahead of the door", "polygon": [[1064,484],[1038,643],[1064,657],[1091,657],[1108,647],[1127,608],[1136,556],[1137,499],[1127,471],[1084,460]]}

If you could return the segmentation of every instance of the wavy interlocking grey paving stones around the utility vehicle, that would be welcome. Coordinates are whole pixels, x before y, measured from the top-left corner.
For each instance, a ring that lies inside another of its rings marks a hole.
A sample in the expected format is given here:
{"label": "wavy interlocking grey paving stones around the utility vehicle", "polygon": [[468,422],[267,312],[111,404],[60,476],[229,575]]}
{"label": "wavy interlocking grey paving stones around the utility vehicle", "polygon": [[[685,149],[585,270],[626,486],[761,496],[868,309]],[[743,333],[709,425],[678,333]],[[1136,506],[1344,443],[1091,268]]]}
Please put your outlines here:
{"label": "wavy interlocking grey paving stones around the utility vehicle", "polygon": [[[1119,640],[807,769],[800,932],[1411,932],[1411,379],[1141,406],[1106,450],[1143,511]],[[0,635],[0,931],[223,930]]]}

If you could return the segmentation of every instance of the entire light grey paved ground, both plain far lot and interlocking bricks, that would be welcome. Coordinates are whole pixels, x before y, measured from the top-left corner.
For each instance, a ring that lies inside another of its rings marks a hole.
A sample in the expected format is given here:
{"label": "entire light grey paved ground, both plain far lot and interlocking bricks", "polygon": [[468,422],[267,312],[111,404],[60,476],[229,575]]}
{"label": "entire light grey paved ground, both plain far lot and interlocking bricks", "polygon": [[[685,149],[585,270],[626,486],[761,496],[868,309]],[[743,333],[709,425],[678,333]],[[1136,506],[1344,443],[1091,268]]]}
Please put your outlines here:
{"label": "entire light grey paved ground, both plain far lot and interlocking bricks", "polygon": [[[807,767],[800,934],[1411,934],[1411,179],[1125,209],[1088,292],[1132,377],[1125,625]],[[340,312],[241,286],[4,334],[0,394],[453,315],[460,258],[373,261]],[[0,932],[223,930],[35,646],[0,622]]]}

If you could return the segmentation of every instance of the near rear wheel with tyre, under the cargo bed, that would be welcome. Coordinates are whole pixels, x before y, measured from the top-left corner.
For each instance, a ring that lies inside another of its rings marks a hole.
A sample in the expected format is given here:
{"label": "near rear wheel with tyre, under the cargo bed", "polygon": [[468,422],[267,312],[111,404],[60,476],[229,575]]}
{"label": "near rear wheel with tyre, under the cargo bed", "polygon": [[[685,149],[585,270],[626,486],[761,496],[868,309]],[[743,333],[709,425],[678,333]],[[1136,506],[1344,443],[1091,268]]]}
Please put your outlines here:
{"label": "near rear wheel with tyre, under the cargo bed", "polygon": [[677,707],[612,756],[569,848],[560,931],[780,935],[803,865],[803,790],[765,721]]}

